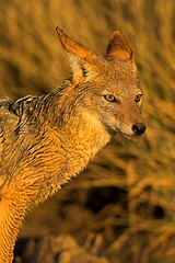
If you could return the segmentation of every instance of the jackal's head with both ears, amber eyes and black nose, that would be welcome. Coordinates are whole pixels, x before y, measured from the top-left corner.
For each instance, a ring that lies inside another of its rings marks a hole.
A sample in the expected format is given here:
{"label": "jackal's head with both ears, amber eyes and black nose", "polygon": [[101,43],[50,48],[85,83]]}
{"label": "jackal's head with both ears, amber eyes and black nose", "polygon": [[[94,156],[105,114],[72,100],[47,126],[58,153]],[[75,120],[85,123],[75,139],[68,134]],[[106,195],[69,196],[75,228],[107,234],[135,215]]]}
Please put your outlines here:
{"label": "jackal's head with both ears, amber eyes and black nose", "polygon": [[81,99],[83,111],[100,121],[110,135],[143,135],[142,91],[125,36],[115,31],[103,58],[70,39],[59,27],[57,33],[70,57],[74,93]]}

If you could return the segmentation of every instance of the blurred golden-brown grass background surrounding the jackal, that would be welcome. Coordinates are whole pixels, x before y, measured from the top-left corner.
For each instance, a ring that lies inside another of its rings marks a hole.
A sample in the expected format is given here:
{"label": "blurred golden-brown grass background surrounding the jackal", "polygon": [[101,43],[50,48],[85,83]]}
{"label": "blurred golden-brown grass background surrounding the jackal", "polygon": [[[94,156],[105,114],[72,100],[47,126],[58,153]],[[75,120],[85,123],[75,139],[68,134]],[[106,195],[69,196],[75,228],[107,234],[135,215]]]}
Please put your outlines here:
{"label": "blurred golden-brown grass background surrounding the jackal", "polygon": [[1,96],[39,95],[69,77],[57,25],[101,55],[114,30],[124,33],[144,91],[148,129],[136,142],[117,136],[28,215],[21,235],[66,231],[85,245],[93,233],[97,253],[112,263],[174,263],[175,1],[1,0]]}

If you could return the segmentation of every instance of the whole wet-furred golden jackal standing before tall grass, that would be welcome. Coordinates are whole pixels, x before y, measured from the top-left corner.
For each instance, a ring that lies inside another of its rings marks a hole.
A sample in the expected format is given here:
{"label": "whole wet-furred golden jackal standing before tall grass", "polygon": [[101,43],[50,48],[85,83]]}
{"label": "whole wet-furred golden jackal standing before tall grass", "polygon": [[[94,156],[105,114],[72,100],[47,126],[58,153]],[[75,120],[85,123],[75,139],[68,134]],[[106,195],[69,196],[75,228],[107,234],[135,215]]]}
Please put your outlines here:
{"label": "whole wet-furred golden jackal standing before tall grass", "polygon": [[80,173],[120,133],[144,134],[132,50],[115,31],[103,58],[57,27],[72,77],[55,92],[0,101],[0,263],[10,263],[25,214]]}

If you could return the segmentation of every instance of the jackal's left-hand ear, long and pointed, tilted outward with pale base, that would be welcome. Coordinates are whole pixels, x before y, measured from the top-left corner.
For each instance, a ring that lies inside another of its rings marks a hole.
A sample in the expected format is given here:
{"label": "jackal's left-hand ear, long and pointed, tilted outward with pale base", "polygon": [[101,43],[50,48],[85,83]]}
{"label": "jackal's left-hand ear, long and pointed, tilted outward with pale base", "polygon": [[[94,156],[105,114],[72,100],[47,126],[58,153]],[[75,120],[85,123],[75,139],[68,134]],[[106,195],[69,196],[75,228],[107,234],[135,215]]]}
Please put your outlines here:
{"label": "jackal's left-hand ear, long and pointed, tilted outward with pale base", "polygon": [[58,26],[56,31],[69,55],[73,77],[91,76],[97,67],[100,58],[90,49],[69,38]]}

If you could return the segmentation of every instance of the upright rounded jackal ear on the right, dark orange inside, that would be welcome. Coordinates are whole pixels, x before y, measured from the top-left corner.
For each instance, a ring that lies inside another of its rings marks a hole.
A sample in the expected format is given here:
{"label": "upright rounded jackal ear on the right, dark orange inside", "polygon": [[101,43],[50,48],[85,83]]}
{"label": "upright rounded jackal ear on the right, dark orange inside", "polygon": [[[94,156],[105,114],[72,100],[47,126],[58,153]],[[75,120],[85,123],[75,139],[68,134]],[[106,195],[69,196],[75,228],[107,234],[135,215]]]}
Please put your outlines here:
{"label": "upright rounded jackal ear on the right, dark orange inside", "polygon": [[112,34],[108,42],[106,56],[114,59],[132,59],[131,47],[119,31],[115,31]]}

